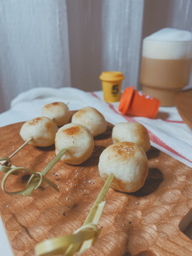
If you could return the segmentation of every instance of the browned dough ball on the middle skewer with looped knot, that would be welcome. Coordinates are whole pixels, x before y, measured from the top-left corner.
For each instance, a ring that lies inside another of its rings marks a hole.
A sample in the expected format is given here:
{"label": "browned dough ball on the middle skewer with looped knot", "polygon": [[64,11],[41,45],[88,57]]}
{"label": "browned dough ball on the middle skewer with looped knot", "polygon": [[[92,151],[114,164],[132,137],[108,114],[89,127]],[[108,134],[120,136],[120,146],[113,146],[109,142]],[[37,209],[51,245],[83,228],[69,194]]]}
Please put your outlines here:
{"label": "browned dough ball on the middle skewer with looped knot", "polygon": [[56,154],[63,148],[67,152],[61,160],[68,164],[81,164],[93,152],[94,140],[88,128],[80,124],[66,124],[61,127],[55,138]]}

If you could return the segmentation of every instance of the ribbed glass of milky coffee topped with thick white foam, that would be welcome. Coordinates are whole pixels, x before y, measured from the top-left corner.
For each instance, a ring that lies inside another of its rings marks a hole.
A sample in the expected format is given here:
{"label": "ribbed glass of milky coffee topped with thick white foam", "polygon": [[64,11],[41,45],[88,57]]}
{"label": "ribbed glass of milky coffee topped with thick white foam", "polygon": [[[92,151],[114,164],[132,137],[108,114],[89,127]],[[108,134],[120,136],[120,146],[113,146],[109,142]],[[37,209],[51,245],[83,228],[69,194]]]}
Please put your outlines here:
{"label": "ribbed glass of milky coffee topped with thick white foam", "polygon": [[[148,36],[143,40],[140,81],[143,92],[159,99],[161,106],[174,106],[175,95],[188,85],[191,75],[192,33],[178,29],[160,32],[157,38]],[[179,40],[183,38],[183,41],[177,41],[177,36],[175,41],[170,41],[169,33],[173,39],[174,33],[181,33]],[[188,36],[182,36],[183,33]],[[166,36],[168,40],[163,41]]]}

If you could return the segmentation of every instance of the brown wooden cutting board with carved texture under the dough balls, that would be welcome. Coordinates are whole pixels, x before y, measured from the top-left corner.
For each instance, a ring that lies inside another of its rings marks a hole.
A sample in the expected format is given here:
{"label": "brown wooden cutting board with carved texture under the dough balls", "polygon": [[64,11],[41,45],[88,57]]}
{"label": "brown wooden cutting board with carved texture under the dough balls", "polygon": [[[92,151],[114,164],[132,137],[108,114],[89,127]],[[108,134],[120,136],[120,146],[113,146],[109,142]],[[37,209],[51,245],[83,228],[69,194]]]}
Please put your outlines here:
{"label": "brown wooden cutting board with carved texture under the dough balls", "polygon": [[[0,156],[22,145],[22,123],[0,129]],[[92,157],[80,166],[59,161],[46,176],[60,186],[60,193],[46,184],[32,196],[9,196],[0,188],[0,214],[15,256],[35,255],[44,239],[71,234],[81,227],[104,185],[97,164],[100,153],[112,143],[112,125],[95,138]],[[15,166],[41,172],[54,158],[54,147],[26,145],[12,158]],[[149,173],[136,193],[109,189],[99,221],[97,242],[83,255],[191,255],[192,242],[181,230],[191,222],[192,169],[150,148]],[[0,180],[4,173],[0,173]],[[10,177],[8,189],[21,189],[27,173]],[[180,230],[181,229],[181,230]]]}

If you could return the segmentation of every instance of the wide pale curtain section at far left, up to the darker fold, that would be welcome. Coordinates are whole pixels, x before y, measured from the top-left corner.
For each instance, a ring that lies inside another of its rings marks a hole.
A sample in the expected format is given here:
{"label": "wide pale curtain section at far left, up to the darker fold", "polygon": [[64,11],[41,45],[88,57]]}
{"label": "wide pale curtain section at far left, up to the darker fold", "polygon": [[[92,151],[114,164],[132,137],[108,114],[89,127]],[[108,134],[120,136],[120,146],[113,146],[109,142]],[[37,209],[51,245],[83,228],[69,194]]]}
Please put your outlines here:
{"label": "wide pale curtain section at far left, up to the darker fold", "polygon": [[71,86],[65,1],[0,1],[0,102],[30,88]]}

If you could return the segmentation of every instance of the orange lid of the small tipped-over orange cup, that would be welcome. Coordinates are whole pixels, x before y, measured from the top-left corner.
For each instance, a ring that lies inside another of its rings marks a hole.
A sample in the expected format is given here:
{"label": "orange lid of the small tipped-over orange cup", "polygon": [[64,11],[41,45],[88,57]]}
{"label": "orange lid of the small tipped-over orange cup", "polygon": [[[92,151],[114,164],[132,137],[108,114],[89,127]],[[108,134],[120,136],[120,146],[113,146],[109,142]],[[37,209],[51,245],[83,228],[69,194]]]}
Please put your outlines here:
{"label": "orange lid of the small tipped-over orange cup", "polygon": [[118,106],[118,110],[122,112],[122,115],[125,115],[127,113],[127,110],[131,104],[133,93],[134,93],[134,86],[125,88],[124,92],[122,93],[120,104]]}

